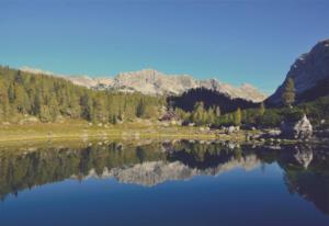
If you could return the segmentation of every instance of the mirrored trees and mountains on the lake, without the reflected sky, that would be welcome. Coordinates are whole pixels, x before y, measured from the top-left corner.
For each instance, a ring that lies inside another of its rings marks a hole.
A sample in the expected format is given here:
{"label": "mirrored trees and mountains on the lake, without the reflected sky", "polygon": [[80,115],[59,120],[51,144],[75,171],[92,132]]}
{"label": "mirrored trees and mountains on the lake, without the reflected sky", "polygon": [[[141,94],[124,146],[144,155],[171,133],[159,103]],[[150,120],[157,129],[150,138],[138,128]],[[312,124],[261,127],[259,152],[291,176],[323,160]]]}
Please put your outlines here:
{"label": "mirrored trees and mountains on the lake, without the reflected sky", "polygon": [[0,151],[0,197],[5,200],[9,194],[69,178],[115,178],[123,183],[154,187],[276,162],[291,193],[329,214],[328,157],[326,146],[251,147],[188,140],[7,148]]}

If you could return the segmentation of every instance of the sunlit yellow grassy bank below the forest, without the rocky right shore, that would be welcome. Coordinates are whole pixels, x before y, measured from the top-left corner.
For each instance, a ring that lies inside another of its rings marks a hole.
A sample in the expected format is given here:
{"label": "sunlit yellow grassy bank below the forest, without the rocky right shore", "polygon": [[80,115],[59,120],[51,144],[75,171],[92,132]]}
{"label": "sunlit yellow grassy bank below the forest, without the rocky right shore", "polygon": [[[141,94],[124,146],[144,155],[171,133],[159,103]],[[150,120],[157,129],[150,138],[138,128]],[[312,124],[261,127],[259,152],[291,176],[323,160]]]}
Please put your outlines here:
{"label": "sunlit yellow grassy bank below the forest, without the rocky right shore", "polygon": [[8,124],[0,127],[0,142],[55,139],[223,139],[245,140],[245,134],[226,135],[203,127],[163,126],[150,122],[117,125],[91,125],[83,121],[64,123]]}

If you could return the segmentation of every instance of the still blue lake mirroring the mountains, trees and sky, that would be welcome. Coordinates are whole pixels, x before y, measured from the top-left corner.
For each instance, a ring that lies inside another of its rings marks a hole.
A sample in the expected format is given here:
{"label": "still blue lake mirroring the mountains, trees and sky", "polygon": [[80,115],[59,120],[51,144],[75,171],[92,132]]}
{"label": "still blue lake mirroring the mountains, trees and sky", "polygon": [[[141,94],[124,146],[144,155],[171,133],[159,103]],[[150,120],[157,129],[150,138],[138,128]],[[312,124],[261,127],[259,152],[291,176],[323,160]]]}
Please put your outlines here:
{"label": "still blue lake mirroring the mountains, trees and sky", "polygon": [[0,225],[329,225],[329,148],[214,142],[0,147]]}

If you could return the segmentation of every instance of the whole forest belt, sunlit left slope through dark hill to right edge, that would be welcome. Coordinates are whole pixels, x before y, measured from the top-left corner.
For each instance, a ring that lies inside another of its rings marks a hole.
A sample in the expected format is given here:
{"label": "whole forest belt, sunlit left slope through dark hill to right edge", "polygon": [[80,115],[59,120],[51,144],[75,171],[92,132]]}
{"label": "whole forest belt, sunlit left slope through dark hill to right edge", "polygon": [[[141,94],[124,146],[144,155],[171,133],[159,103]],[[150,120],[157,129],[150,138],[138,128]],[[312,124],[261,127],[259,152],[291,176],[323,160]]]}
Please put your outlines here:
{"label": "whole forest belt, sunlit left slope through dark hill to right edge", "polygon": [[327,127],[329,98],[322,93],[324,89],[321,93],[326,97],[295,102],[294,82],[287,84],[283,97],[285,105],[266,108],[265,103],[230,99],[203,88],[191,89],[178,97],[100,91],[60,77],[0,67],[0,122],[18,123],[27,115],[34,117],[34,122],[43,123],[72,118],[116,124],[136,118],[158,120],[167,109],[173,110],[183,124],[275,127],[286,117],[307,114],[313,124]]}

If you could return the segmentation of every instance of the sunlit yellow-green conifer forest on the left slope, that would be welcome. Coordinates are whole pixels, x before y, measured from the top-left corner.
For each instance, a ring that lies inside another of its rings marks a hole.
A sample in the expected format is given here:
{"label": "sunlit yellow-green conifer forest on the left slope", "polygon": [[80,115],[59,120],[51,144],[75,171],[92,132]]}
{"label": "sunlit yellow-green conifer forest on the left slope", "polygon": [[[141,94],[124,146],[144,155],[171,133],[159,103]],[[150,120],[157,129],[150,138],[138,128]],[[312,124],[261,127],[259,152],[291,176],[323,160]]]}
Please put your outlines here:
{"label": "sunlit yellow-green conifer forest on the left slope", "polygon": [[113,123],[157,116],[166,104],[160,97],[95,91],[63,78],[0,67],[0,121],[34,115],[42,122],[60,117]]}

